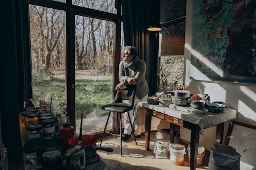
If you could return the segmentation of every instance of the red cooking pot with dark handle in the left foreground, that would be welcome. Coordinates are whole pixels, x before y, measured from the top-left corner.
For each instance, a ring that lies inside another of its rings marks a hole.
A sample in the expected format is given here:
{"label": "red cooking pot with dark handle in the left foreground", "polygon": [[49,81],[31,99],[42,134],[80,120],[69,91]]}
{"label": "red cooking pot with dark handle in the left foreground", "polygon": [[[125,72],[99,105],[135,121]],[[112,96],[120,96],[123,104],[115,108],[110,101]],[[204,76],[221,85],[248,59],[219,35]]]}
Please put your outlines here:
{"label": "red cooking pot with dark handle in the left foreground", "polygon": [[[97,138],[92,135],[82,135],[82,147],[86,151],[86,159],[92,158],[96,155],[97,150],[102,150],[106,152],[113,152],[112,148],[97,147]],[[74,147],[78,143],[78,137],[72,137],[69,139],[69,145]]]}

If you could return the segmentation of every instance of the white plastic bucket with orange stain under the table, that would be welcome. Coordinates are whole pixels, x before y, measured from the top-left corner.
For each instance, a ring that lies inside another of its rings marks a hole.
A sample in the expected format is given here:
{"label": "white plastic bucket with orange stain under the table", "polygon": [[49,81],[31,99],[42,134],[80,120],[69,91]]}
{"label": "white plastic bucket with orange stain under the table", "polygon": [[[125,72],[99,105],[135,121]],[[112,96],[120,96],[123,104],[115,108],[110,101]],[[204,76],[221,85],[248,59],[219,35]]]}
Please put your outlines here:
{"label": "white plastic bucket with orange stain under the table", "polygon": [[170,160],[175,165],[183,165],[184,164],[184,155],[186,154],[186,148],[184,145],[170,143]]}

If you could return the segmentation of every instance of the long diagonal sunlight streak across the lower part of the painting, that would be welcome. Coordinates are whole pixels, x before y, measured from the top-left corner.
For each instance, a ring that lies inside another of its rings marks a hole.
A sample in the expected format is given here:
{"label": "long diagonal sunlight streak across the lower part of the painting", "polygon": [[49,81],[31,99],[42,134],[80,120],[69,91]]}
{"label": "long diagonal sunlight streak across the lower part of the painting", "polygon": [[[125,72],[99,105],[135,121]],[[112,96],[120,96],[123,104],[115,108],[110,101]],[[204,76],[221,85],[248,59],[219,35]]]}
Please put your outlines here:
{"label": "long diagonal sunlight streak across the lower part of the painting", "polygon": [[[207,58],[205,58],[202,54],[194,50],[191,45],[188,43],[185,43],[185,48],[190,51],[191,54],[193,54],[197,59],[199,59],[201,62],[203,62],[205,65],[207,65],[212,71],[216,72],[220,77],[223,77],[223,70],[221,70],[218,66],[216,66],[214,63],[210,62]],[[192,73],[193,71],[191,71]],[[202,80],[202,79],[199,79]]]}

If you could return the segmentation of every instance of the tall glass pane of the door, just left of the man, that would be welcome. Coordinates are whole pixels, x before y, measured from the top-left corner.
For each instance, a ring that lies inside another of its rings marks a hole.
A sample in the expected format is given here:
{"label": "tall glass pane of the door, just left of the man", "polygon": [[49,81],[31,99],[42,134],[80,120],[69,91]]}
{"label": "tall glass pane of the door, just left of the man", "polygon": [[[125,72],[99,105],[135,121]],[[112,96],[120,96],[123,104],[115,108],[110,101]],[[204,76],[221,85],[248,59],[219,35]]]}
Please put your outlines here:
{"label": "tall glass pane of the door, just left of the man", "polygon": [[101,105],[113,100],[113,59],[114,22],[76,15],[75,115],[80,129],[83,113],[83,134],[104,130],[108,112]]}

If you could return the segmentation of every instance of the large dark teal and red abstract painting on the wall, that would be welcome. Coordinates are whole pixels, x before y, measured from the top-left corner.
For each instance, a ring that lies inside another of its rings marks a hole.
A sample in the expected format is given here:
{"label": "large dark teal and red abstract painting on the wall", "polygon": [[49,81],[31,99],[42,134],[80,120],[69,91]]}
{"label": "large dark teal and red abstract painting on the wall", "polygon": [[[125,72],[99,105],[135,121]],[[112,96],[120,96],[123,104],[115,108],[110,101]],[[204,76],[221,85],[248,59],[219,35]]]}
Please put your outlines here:
{"label": "large dark teal and red abstract painting on the wall", "polygon": [[256,83],[255,8],[255,0],[194,0],[191,79]]}

